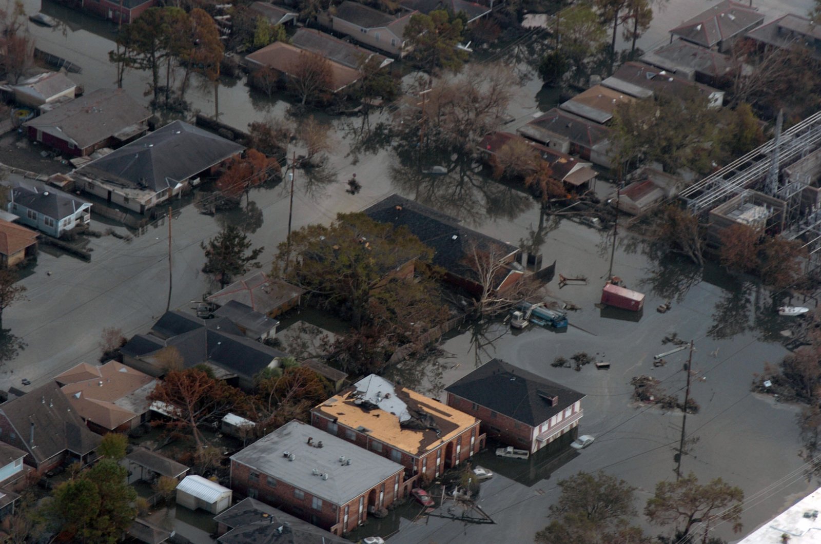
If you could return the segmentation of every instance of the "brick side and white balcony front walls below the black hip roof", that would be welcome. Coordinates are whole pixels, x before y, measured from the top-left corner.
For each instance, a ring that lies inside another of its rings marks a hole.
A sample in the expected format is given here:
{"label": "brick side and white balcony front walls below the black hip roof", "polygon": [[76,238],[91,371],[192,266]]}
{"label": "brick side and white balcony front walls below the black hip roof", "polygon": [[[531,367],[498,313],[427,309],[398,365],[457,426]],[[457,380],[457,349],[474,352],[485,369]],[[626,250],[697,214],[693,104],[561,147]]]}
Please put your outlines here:
{"label": "brick side and white balcony front walls below the black hip roof", "polygon": [[535,440],[539,432],[556,430],[560,432],[557,437],[561,436],[578,426],[578,417],[581,413],[580,402],[577,402],[571,406],[570,416],[564,417],[562,411],[561,418],[552,417],[541,425],[533,427],[517,422],[512,417],[493,412],[493,410],[472,403],[470,400],[462,399],[452,393],[447,394],[447,405],[478,417],[482,422],[482,431],[486,432],[489,437],[516,448],[530,449],[530,453],[535,453],[549,443]]}

